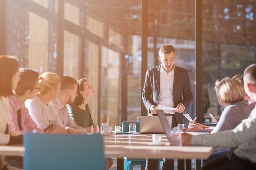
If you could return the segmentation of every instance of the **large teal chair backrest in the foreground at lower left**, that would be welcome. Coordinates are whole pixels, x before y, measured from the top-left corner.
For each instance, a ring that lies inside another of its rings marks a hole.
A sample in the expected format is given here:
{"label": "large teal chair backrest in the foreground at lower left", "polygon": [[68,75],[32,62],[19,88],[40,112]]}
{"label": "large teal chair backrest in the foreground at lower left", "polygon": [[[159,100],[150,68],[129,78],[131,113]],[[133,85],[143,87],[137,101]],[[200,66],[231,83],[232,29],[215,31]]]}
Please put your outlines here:
{"label": "large teal chair backrest in the foreground at lower left", "polygon": [[105,170],[102,135],[26,133],[25,170]]}

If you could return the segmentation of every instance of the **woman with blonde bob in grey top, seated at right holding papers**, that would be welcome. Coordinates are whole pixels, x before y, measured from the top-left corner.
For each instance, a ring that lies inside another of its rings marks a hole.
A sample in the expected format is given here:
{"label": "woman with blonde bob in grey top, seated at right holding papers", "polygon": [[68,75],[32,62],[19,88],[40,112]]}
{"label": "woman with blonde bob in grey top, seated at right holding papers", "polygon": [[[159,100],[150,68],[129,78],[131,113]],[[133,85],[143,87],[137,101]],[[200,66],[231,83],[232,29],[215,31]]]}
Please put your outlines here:
{"label": "woman with blonde bob in grey top, seated at right holding papers", "polygon": [[[245,99],[244,85],[232,78],[224,78],[214,87],[216,96],[221,106],[225,107],[221,113],[220,120],[211,133],[217,133],[233,129],[248,118],[252,109],[248,105],[248,100]],[[193,127],[194,130],[204,130],[207,126],[200,123],[190,122],[188,127]],[[186,130],[186,129],[185,129]],[[203,166],[206,162],[223,156],[229,149],[215,149],[208,160],[201,160]]]}

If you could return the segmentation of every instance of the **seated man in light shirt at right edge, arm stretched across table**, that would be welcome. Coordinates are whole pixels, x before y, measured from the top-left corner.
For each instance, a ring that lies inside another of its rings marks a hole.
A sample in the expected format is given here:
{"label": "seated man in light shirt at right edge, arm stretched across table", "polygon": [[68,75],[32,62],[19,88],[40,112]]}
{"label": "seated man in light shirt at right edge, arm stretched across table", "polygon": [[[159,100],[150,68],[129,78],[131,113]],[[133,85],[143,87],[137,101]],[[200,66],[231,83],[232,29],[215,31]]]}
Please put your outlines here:
{"label": "seated man in light shirt at right edge, arm stretched across table", "polygon": [[[256,64],[244,70],[244,90],[256,100]],[[232,130],[210,135],[191,136],[182,134],[182,145],[201,145],[233,148],[226,156],[204,164],[202,169],[214,170],[255,170],[256,169],[256,107],[249,117]]]}

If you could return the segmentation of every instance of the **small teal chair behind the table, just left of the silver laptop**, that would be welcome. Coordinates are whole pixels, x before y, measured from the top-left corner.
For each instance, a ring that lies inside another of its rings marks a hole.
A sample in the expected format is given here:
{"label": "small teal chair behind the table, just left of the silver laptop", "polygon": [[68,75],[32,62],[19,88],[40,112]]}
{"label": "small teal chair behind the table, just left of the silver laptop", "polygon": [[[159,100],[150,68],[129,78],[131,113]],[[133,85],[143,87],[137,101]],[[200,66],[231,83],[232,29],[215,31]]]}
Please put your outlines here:
{"label": "small teal chair behind the table, just left of the silver laptop", "polygon": [[[132,122],[132,121],[123,121],[122,123],[122,130],[123,132],[129,131],[130,123],[136,124],[136,132],[140,131],[140,122]],[[160,162],[162,160],[158,160],[158,170],[161,170]],[[124,157],[124,170],[133,170],[133,166],[136,165],[146,165],[146,159],[129,159]]]}

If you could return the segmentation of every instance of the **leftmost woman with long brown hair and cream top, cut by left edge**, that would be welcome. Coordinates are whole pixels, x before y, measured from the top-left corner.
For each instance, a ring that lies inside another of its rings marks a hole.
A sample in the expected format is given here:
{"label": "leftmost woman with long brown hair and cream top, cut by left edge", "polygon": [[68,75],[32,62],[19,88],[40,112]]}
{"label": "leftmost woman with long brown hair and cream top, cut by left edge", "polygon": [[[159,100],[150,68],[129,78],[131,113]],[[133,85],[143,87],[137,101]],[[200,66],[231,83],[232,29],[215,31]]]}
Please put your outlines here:
{"label": "leftmost woman with long brown hair and cream top, cut by left edge", "polygon": [[[15,57],[0,55],[0,145],[22,143],[22,135],[12,130],[7,96],[13,95],[19,81],[19,64]],[[0,170],[20,170],[9,166],[0,156]]]}

